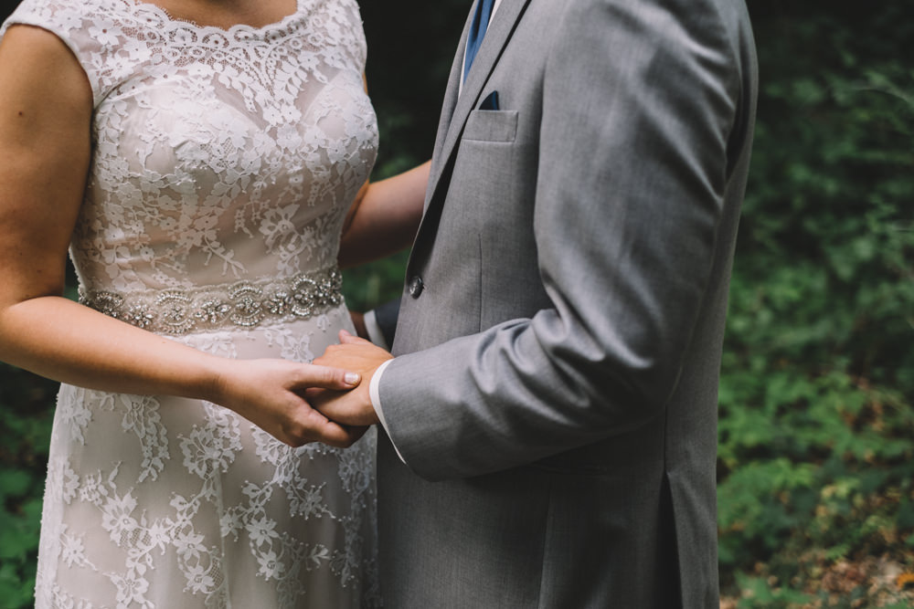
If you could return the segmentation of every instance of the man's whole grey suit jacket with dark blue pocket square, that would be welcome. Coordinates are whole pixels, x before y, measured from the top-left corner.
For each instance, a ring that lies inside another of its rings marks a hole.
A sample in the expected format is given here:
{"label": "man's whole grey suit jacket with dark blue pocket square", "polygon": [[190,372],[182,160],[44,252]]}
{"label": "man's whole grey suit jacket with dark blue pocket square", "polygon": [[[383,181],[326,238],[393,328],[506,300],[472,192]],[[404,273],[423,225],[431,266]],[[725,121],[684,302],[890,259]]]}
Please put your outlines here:
{"label": "man's whole grey suit jacket with dark blue pocket square", "polygon": [[386,604],[716,609],[746,7],[504,0],[458,98],[465,37],[380,381]]}

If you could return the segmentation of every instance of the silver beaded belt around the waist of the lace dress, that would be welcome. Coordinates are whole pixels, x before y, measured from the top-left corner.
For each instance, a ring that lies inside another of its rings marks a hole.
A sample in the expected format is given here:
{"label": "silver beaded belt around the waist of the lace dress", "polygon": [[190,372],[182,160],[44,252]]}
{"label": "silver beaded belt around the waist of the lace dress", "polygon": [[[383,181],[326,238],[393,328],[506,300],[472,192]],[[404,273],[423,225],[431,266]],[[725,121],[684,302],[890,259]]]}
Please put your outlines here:
{"label": "silver beaded belt around the waist of the lace dress", "polygon": [[163,334],[250,328],[265,320],[307,319],[343,302],[338,268],[291,278],[239,281],[193,289],[120,294],[80,288],[80,302],[116,320]]}

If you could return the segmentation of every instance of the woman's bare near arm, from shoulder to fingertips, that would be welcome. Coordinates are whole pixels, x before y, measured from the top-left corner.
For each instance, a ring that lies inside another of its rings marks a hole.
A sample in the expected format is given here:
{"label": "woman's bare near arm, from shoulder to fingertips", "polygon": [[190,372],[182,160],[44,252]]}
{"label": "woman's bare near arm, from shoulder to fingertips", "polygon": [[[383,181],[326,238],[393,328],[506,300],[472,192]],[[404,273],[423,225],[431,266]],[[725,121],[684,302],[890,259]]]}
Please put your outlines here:
{"label": "woman's bare near arm, from shoulder to fingertips", "polygon": [[[351,444],[296,392],[343,371],[208,355],[61,297],[90,164],[92,94],[67,47],[13,26],[0,41],[0,360],[104,391],[222,404],[282,441]],[[357,381],[356,381],[357,383]]]}

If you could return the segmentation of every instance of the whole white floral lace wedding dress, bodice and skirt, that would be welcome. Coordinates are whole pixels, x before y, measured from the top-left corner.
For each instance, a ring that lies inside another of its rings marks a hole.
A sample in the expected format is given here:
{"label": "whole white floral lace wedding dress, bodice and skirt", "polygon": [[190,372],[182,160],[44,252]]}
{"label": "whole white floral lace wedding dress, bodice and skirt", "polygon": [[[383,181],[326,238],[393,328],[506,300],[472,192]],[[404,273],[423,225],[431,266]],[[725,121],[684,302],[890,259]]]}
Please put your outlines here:
{"label": "whole white floral lace wedding dress, bodice and skirt", "polygon": [[[352,329],[327,269],[377,150],[356,0],[228,30],[24,0],[14,24],[58,36],[92,88],[70,255],[97,308],[239,359],[309,362]],[[152,323],[175,303],[194,325]],[[370,434],[293,449],[216,404],[63,385],[36,606],[374,606],[373,456]]]}

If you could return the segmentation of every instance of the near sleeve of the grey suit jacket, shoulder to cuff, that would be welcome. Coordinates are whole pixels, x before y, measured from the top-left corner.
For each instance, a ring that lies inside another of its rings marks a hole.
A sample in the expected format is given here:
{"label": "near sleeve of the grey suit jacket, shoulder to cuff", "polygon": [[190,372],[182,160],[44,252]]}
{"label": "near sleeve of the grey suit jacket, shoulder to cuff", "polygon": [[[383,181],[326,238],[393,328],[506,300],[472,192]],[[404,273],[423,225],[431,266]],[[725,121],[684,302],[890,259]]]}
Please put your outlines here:
{"label": "near sleeve of the grey suit jacket, shoulder to cuff", "polygon": [[732,33],[688,4],[568,3],[533,202],[553,307],[388,366],[389,435],[423,478],[531,463],[664,412],[716,257],[741,88]]}

